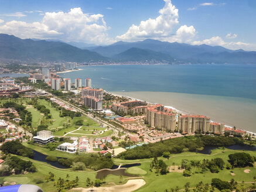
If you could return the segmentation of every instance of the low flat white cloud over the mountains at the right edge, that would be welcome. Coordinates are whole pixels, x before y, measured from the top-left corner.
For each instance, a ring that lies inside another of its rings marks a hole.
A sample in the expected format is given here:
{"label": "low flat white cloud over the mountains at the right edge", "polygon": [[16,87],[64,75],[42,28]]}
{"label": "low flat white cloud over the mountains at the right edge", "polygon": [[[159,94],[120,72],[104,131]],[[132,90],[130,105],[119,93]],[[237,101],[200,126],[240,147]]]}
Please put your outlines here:
{"label": "low flat white cloud over the mountains at the right edge", "polygon": [[220,36],[214,36],[210,39],[204,39],[201,41],[194,41],[192,44],[208,44],[210,46],[223,46],[227,49],[237,50],[237,49],[244,49],[244,50],[255,50],[256,45],[244,42],[225,42]]}

